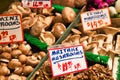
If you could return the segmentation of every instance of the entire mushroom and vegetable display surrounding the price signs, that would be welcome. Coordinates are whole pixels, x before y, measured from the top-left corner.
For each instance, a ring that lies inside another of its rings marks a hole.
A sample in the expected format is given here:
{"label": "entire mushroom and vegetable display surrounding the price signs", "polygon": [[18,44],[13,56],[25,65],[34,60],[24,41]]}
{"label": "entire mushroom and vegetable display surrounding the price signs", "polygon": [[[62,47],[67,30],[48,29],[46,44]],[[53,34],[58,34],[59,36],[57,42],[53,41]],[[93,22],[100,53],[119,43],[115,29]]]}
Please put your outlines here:
{"label": "entire mushroom and vegetable display surrounding the price signs", "polygon": [[[110,26],[84,32],[83,11],[108,8],[120,17],[120,0],[52,0],[51,8],[24,8],[14,1],[2,14],[20,14],[24,42],[0,45],[0,80],[119,80],[120,28]],[[117,35],[117,39],[115,38]],[[53,78],[47,49],[81,44],[88,70]]]}

